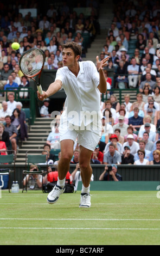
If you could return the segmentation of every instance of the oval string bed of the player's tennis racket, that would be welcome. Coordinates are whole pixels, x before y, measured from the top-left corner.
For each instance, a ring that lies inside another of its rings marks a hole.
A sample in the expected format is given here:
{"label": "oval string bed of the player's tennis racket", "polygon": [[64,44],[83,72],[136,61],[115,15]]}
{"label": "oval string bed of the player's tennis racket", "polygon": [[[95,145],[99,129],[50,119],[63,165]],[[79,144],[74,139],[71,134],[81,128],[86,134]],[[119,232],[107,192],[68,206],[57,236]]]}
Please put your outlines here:
{"label": "oval string bed of the player's tennis racket", "polygon": [[21,70],[28,77],[39,74],[43,66],[43,54],[39,49],[26,52],[21,60]]}

